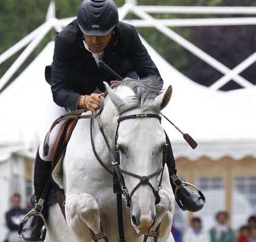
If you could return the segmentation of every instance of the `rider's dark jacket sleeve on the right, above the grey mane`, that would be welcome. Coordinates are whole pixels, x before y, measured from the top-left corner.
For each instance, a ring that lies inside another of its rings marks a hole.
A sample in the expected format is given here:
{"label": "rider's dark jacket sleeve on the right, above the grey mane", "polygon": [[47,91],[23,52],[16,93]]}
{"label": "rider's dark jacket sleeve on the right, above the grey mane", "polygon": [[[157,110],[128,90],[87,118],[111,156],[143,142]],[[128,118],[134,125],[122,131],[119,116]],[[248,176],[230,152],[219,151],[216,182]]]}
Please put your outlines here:
{"label": "rider's dark jacket sleeve on the right, above the grey mane", "polygon": [[[132,26],[131,46],[129,61],[133,65],[134,71],[140,78],[148,76],[159,76],[159,71],[152,61],[147,49],[142,44],[137,30]],[[160,79],[161,80],[161,79]],[[161,80],[162,82],[162,80]]]}

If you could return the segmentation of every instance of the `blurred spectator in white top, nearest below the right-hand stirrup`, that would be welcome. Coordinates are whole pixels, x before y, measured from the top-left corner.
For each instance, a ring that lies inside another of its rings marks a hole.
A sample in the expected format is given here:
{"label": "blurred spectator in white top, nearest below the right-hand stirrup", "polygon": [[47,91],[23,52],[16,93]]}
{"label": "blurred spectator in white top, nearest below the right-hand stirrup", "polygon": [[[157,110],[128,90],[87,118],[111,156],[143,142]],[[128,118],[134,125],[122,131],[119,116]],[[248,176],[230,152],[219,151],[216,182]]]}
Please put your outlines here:
{"label": "blurred spectator in white top, nearest below the right-hand stirrup", "polygon": [[183,242],[208,242],[208,233],[202,229],[200,218],[192,218],[191,226],[187,229]]}

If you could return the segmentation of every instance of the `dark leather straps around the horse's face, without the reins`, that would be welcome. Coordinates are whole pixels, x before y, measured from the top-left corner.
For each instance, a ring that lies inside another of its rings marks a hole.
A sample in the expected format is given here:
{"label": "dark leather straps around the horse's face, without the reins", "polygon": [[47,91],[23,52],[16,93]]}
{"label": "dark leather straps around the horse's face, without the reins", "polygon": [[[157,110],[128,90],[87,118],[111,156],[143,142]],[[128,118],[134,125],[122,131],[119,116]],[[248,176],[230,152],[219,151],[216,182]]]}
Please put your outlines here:
{"label": "dark leather straps around the horse's face, without the reins", "polygon": [[[160,196],[159,196],[158,192],[159,192],[159,189],[161,187],[164,163],[165,163],[165,160],[166,160],[166,158],[165,158],[165,156],[166,156],[166,146],[163,149],[163,162],[162,162],[163,165],[162,165],[162,168],[157,170],[157,171],[155,171],[154,173],[152,173],[150,175],[140,176],[140,175],[134,174],[132,172],[129,172],[129,171],[126,171],[126,170],[123,170],[123,169],[120,168],[120,152],[119,152],[120,149],[119,149],[119,146],[117,145],[118,129],[119,129],[120,122],[122,122],[123,120],[126,120],[126,119],[143,118],[143,117],[145,117],[145,118],[155,117],[155,118],[158,118],[159,121],[161,122],[161,116],[158,115],[158,114],[152,114],[152,113],[127,115],[127,116],[123,116],[123,117],[120,117],[120,118],[117,119],[118,125],[117,125],[116,135],[115,135],[115,147],[116,147],[116,159],[115,160],[116,161],[115,161],[115,163],[112,162],[112,164],[116,166],[116,169],[115,169],[116,176],[118,177],[118,182],[119,182],[119,185],[120,185],[120,188],[121,188],[121,191],[122,191],[122,197],[126,200],[126,206],[127,207],[131,207],[132,196],[135,193],[135,191],[141,185],[148,185],[152,189],[153,194],[154,194],[154,196],[156,198],[155,205],[157,205],[160,202]],[[127,174],[127,175],[131,175],[131,176],[134,176],[134,177],[137,177],[137,178],[140,179],[140,182],[133,189],[133,191],[131,192],[131,195],[127,191],[127,188],[125,186],[125,181],[124,181],[122,173]],[[158,187],[157,187],[157,190],[156,190],[152,186],[152,184],[149,182],[149,179],[151,177],[155,176],[155,175],[158,175],[159,173],[161,173],[161,177],[160,177],[159,184],[158,184]]]}

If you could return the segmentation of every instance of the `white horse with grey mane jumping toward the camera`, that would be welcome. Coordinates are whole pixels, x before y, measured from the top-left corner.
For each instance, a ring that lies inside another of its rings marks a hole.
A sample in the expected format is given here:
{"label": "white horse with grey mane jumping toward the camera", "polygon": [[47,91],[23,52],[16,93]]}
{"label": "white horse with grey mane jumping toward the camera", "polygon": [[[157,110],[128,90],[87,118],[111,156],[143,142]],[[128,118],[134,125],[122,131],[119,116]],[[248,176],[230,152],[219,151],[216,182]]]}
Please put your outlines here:
{"label": "white horse with grey mane jumping toward the camera", "polygon": [[[165,92],[160,93],[159,80],[150,78],[122,81],[114,89],[111,89],[107,83],[104,84],[109,95],[105,98],[103,111],[98,118],[112,150],[115,150],[119,116],[141,113],[159,115],[172,95],[172,87],[169,86]],[[100,159],[113,170],[106,143],[95,119],[93,139]],[[143,241],[144,234],[149,230],[157,230],[158,225],[160,225],[160,234],[157,241],[174,241],[170,233],[174,213],[174,194],[166,164],[162,173],[158,172],[148,179],[152,187],[148,184],[137,186],[140,179],[125,173],[127,171],[139,176],[149,176],[161,170],[166,141],[159,119],[153,116],[121,120],[116,142],[125,186],[130,196],[132,194],[130,208],[125,206],[123,199],[125,241]],[[160,186],[159,180],[161,180]],[[62,182],[66,195],[66,221],[58,205],[51,206],[46,241],[119,241],[113,176],[103,168],[93,153],[90,119],[79,120],[73,131],[63,160]],[[157,198],[154,190],[159,190],[160,202],[157,205],[155,205]],[[89,228],[94,234],[101,234],[104,229],[108,240],[93,239]],[[154,239],[148,237],[147,242],[156,241]]]}

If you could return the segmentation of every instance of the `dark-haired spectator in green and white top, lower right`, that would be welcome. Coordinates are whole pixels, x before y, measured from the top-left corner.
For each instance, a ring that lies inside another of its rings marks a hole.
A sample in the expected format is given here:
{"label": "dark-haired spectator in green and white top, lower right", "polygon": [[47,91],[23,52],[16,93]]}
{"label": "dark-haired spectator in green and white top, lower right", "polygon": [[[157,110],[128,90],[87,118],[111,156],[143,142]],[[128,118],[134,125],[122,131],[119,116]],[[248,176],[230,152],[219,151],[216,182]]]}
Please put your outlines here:
{"label": "dark-haired spectator in green and white top, lower right", "polygon": [[210,229],[210,242],[236,242],[234,231],[228,226],[229,215],[225,211],[216,215],[216,226]]}

